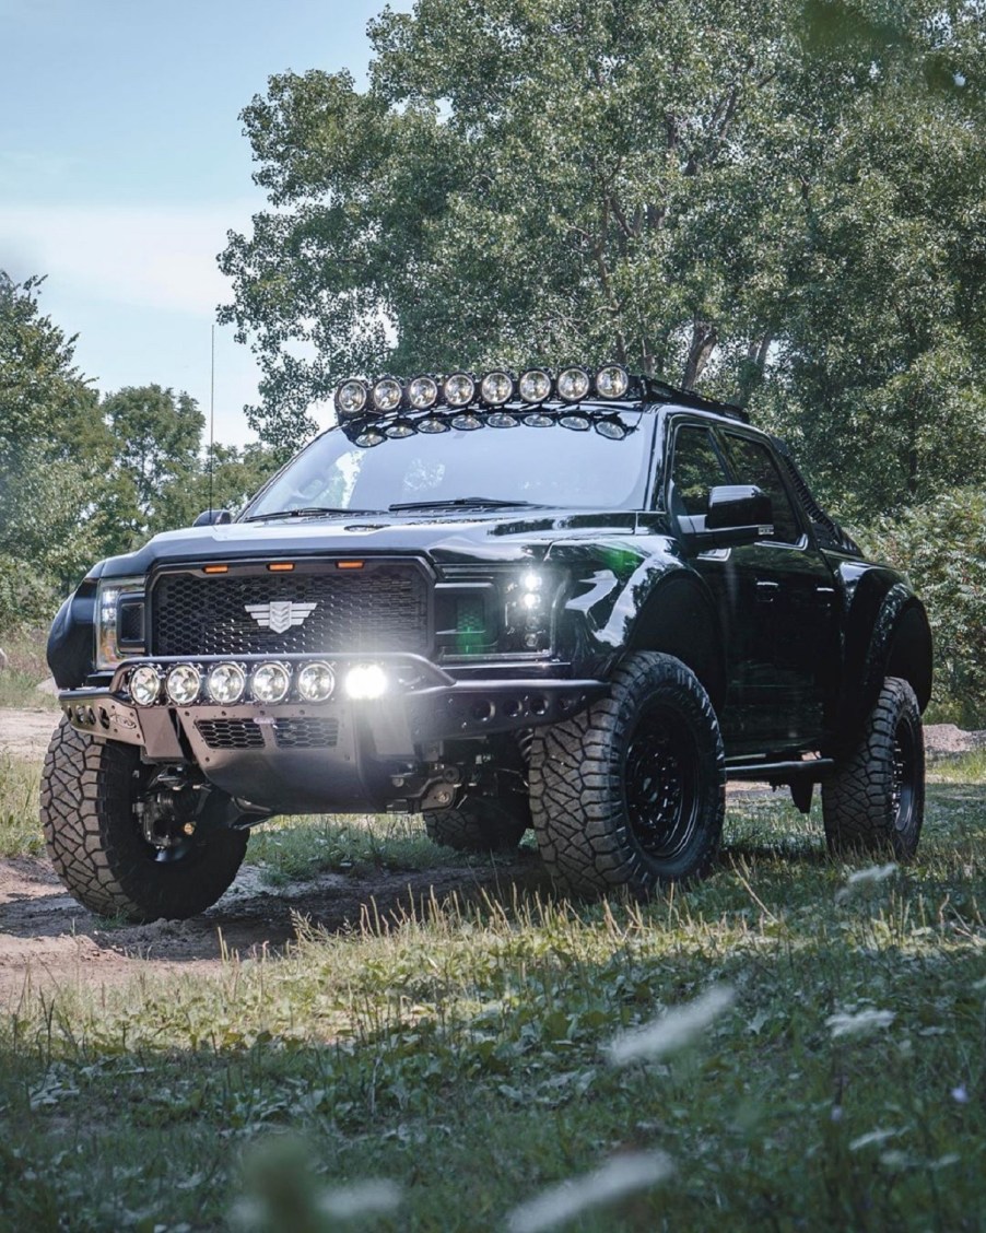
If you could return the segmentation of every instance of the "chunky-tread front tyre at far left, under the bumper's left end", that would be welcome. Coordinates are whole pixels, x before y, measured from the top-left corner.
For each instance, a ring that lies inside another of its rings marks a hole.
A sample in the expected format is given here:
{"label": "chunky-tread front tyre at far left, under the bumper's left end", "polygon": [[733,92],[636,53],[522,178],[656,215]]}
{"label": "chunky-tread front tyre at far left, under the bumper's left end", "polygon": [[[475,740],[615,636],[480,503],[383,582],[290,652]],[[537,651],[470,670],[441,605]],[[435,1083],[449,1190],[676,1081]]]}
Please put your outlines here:
{"label": "chunky-tread front tyre at far left, under the bumper's left end", "polygon": [[177,848],[154,848],[133,811],[142,777],[136,746],[97,741],[67,719],[52,736],[41,780],[41,824],[69,891],[101,916],[184,920],[233,882],[248,835],[216,827]]}

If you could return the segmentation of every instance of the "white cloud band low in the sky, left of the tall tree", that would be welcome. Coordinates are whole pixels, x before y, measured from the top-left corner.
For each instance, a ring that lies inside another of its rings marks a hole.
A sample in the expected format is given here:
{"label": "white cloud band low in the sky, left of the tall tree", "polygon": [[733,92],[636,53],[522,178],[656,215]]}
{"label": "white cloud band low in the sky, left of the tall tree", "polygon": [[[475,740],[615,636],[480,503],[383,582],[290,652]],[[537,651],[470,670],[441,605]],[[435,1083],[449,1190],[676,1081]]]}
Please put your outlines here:
{"label": "white cloud band low in the sky, left of the tall tree", "polygon": [[97,301],[212,317],[230,295],[216,254],[244,202],[175,210],[127,206],[0,207],[0,268],[47,274]]}

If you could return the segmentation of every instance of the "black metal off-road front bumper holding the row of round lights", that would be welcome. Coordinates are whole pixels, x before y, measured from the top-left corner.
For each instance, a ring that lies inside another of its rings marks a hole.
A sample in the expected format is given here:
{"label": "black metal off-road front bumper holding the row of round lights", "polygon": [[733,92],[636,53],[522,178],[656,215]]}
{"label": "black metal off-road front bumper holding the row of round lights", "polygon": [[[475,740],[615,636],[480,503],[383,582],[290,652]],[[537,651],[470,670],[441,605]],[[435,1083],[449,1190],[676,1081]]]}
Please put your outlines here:
{"label": "black metal off-road front bumper holding the row of round lights", "polygon": [[[253,667],[276,658],[292,679],[313,656],[237,656]],[[417,655],[325,656],[336,679],[355,665],[380,665],[387,690],[359,700],[336,688],[324,702],[304,702],[296,690],[282,703],[202,700],[142,707],[128,689],[143,665],[160,674],[191,663],[205,679],[229,656],[128,660],[106,686],[68,689],[59,700],[70,723],[101,740],[141,746],[153,761],[194,761],[230,795],[271,809],[360,810],[394,808],[394,780],[423,762],[442,761],[441,746],[495,734],[556,724],[604,697],[601,681],[563,677],[456,679]],[[503,665],[497,666],[503,672]]]}

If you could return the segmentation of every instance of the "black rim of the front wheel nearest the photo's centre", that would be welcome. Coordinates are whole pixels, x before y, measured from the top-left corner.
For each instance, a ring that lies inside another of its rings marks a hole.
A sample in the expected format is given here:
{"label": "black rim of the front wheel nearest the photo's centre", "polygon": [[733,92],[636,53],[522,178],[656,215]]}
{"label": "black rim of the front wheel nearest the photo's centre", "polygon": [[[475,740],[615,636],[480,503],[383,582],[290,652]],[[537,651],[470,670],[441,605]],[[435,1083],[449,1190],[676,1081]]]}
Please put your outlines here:
{"label": "black rim of the front wheel nearest the photo's centre", "polygon": [[695,836],[696,763],[679,714],[652,708],[641,715],[626,752],[624,792],[630,831],[654,861],[675,861]]}

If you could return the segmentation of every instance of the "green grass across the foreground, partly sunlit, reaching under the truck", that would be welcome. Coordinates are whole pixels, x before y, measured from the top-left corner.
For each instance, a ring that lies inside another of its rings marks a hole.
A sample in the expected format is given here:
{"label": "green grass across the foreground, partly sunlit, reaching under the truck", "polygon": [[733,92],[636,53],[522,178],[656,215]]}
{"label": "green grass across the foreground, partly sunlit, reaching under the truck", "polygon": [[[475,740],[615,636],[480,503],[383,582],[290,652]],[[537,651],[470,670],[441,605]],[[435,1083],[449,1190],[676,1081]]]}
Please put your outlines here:
{"label": "green grass across the foreground, partly sunlit, reaching under the truck", "polygon": [[[401,1202],[352,1227],[497,1229],[640,1150],[674,1176],[571,1227],[980,1229],[986,789],[947,774],[919,859],[849,895],[817,817],[733,798],[714,877],[646,907],[409,901],[212,980],[26,999],[0,1031],[0,1229],[334,1228],[323,1192],[366,1179]],[[375,827],[318,822],[317,859],[419,867],[404,824]],[[274,877],[311,868],[301,831],[256,837]],[[736,1000],[691,1047],[608,1062],[712,984]],[[833,1037],[866,1010],[894,1018]]]}

